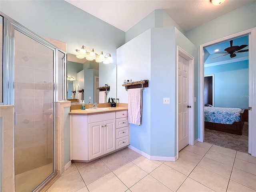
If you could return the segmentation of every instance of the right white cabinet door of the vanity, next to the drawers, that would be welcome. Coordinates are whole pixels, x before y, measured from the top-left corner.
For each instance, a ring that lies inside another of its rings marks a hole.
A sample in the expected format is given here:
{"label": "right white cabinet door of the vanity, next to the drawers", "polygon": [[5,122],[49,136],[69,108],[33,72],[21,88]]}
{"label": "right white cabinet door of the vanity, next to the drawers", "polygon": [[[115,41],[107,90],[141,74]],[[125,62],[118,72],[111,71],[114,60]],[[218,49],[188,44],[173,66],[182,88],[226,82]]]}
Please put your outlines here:
{"label": "right white cabinet door of the vanity, next to the drawers", "polygon": [[104,121],[104,154],[116,150],[116,120]]}

